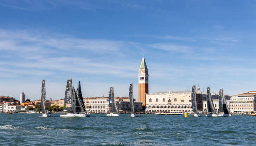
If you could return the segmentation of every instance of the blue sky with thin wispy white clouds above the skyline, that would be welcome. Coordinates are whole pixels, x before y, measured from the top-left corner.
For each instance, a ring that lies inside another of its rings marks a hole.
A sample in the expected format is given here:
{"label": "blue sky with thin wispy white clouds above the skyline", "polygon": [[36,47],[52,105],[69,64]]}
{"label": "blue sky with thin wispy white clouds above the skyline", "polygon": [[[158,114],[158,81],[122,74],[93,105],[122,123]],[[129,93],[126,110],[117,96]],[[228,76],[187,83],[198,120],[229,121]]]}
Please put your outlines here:
{"label": "blue sky with thin wispy white clouds above the skyline", "polygon": [[234,95],[256,90],[255,1],[1,0],[0,95],[128,96],[145,54],[149,93],[199,84]]}

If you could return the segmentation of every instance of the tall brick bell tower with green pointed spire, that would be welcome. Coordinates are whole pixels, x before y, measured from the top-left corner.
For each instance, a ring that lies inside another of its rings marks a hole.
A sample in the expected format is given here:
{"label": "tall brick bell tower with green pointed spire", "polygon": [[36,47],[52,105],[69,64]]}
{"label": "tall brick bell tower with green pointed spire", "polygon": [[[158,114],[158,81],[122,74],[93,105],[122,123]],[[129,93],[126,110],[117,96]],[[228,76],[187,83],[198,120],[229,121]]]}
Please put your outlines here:
{"label": "tall brick bell tower with green pointed spire", "polygon": [[144,54],[140,64],[140,71],[138,76],[139,76],[139,102],[142,102],[143,110],[145,110],[146,93],[148,93],[148,68],[146,65]]}

